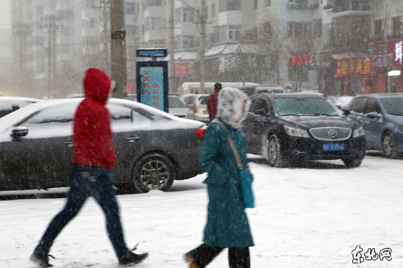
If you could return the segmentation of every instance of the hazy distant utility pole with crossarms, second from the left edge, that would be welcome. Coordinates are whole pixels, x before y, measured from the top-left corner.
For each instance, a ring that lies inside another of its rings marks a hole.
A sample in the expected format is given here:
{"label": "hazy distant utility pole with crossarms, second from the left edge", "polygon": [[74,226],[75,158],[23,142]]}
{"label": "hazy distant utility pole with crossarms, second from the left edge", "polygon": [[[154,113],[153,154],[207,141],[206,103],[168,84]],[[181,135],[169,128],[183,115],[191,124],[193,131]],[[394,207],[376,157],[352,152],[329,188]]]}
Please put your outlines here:
{"label": "hazy distant utility pole with crossarms, second from the left edge", "polygon": [[54,15],[47,15],[42,17],[42,28],[48,31],[48,45],[47,45],[47,91],[49,97],[51,95],[51,79],[54,76],[56,68],[56,30],[61,25],[57,22],[59,18]]}

